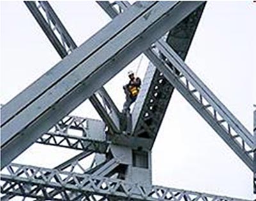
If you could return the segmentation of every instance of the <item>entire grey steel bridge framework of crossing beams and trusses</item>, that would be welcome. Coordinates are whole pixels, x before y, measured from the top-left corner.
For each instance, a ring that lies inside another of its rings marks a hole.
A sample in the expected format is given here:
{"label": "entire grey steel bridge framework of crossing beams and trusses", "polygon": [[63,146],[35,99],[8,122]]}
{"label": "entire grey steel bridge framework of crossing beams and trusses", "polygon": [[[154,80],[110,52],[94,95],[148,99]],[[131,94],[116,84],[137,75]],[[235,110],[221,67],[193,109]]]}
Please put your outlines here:
{"label": "entire grey steel bridge framework of crossing beams and trusses", "polygon": [[[252,134],[184,63],[205,3],[136,2],[132,6],[125,1],[97,3],[113,21],[77,48],[47,1],[25,2],[63,58],[50,71],[56,73],[59,68],[62,71],[49,80],[40,78],[34,86],[1,108],[3,200],[11,200],[15,196],[36,200],[243,200],[152,186],[151,181],[150,150],[174,88],[248,168],[253,170],[255,167]],[[131,33],[136,34],[133,36]],[[152,35],[154,38],[150,38]],[[99,43],[92,45],[95,39]],[[108,45],[116,45],[115,54],[106,53]],[[131,116],[124,117],[102,86],[141,53],[150,59],[150,64],[134,110]],[[102,63],[95,63],[95,68],[86,72],[79,69],[79,65],[86,66],[84,61],[91,64],[97,57]],[[119,58],[122,58],[122,63]],[[63,66],[67,68],[63,69]],[[119,66],[119,69],[113,68],[111,75],[106,75],[104,69],[108,66]],[[82,80],[73,80],[70,88],[67,86],[62,92],[58,84],[66,77],[67,81],[72,81],[68,73],[75,70],[84,73]],[[47,91],[51,93],[52,90],[50,85],[55,87],[54,90],[60,89],[60,96],[54,97],[56,102],[47,98]],[[90,86],[90,90],[83,85]],[[35,90],[38,86],[42,91]],[[78,93],[84,96],[80,97]],[[67,103],[66,96],[67,99],[74,98],[74,101]],[[87,98],[103,121],[67,116]],[[42,103],[45,104],[35,109]],[[63,106],[66,106],[61,110],[63,112],[54,113]],[[29,115],[26,112],[30,112]],[[129,121],[131,124],[127,123]],[[79,134],[70,134],[72,130],[79,131]],[[131,135],[127,135],[127,131]],[[22,135],[29,135],[30,142],[22,140]],[[81,153],[53,169],[10,163],[34,142],[76,149]],[[91,167],[84,168],[81,161],[93,153],[95,158]],[[120,156],[120,153],[127,157]]]}

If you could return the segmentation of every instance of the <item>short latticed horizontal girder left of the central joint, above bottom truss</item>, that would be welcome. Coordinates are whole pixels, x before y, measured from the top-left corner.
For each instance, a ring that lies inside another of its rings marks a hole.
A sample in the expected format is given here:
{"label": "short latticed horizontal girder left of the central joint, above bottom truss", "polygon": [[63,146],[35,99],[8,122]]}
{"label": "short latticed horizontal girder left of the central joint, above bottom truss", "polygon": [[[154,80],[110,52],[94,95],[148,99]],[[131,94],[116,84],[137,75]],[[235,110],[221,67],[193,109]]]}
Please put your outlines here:
{"label": "short latticed horizontal girder left of the central joint, above bottom truss", "polygon": [[51,130],[40,136],[36,143],[95,153],[106,153],[111,144],[106,140],[102,121],[76,116],[61,119]]}

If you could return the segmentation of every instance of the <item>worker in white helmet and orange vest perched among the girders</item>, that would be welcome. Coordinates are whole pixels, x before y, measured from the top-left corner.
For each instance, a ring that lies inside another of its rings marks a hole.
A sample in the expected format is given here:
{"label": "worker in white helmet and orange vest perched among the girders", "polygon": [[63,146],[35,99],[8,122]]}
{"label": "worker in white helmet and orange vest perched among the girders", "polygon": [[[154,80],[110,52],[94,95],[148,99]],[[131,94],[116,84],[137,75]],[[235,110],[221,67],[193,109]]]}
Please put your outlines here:
{"label": "worker in white helmet and orange vest perched among the girders", "polygon": [[126,101],[124,103],[123,107],[123,113],[129,113],[130,112],[130,106],[134,101],[136,101],[136,98],[140,92],[140,86],[141,86],[141,80],[139,77],[135,77],[133,71],[128,72],[128,77],[130,79],[129,83],[125,85],[124,92],[126,95]]}

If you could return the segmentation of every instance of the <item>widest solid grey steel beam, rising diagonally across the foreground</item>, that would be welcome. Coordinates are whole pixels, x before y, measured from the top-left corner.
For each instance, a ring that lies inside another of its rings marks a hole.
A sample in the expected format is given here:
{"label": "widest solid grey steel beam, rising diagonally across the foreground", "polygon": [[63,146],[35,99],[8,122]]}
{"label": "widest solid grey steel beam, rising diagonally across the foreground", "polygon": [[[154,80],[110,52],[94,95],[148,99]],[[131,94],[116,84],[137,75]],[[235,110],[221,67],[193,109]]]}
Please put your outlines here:
{"label": "widest solid grey steel beam, rising diagonally across the foreground", "polygon": [[24,103],[23,98],[29,96],[31,101],[24,103],[8,121],[2,121],[1,168],[200,4],[202,2],[134,3],[13,98]]}

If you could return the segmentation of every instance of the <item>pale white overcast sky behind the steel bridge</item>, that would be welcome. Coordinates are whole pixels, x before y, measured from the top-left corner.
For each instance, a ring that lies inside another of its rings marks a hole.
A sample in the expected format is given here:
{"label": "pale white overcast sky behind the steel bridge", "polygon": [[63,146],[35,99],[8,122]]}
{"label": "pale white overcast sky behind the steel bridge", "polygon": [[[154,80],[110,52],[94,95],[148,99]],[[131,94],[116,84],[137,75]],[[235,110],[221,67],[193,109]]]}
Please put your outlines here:
{"label": "pale white overcast sky behind the steel bridge", "polygon": [[[0,103],[5,104],[61,59],[24,3],[1,1],[0,5]],[[92,1],[53,1],[51,5],[77,45],[110,22],[108,15]],[[207,3],[186,59],[189,67],[251,132],[252,105],[256,103],[255,15],[253,1]],[[120,110],[127,71],[135,71],[138,61],[106,84]],[[138,71],[141,78],[147,63],[144,56]],[[88,101],[72,115],[100,118]],[[33,145],[16,162],[54,167],[77,154],[60,149]],[[230,197],[253,197],[252,172],[177,91],[173,93],[152,153],[153,184]]]}

